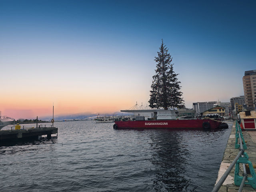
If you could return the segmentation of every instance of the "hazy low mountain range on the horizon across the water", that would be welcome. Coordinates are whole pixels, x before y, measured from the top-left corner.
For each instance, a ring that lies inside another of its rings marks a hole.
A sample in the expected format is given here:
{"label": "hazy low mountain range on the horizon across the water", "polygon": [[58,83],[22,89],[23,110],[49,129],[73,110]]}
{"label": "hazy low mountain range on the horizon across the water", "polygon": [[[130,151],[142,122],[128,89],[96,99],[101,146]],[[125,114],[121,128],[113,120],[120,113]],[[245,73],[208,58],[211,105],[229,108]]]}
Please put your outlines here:
{"label": "hazy low mountain range on the horizon across the water", "polygon": [[[112,115],[130,115],[124,112],[114,112],[114,113],[104,113],[104,114],[95,114],[95,113],[78,113],[78,114],[68,114],[68,115],[54,115],[55,121],[62,120],[88,120],[92,118],[96,118],[97,116],[112,116]],[[40,118],[41,120],[50,121],[52,116],[46,116]]]}

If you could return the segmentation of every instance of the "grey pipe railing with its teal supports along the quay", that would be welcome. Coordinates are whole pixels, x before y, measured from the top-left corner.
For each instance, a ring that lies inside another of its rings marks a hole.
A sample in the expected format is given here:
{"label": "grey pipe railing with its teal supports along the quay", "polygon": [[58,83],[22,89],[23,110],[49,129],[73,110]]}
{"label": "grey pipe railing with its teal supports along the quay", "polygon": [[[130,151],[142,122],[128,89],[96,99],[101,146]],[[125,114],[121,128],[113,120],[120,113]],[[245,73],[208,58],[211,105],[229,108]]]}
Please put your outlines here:
{"label": "grey pipe railing with its teal supports along the quay", "polygon": [[[239,138],[240,144],[238,144],[238,138]],[[254,188],[254,189],[256,188],[255,171],[254,171],[254,168],[252,166],[252,162],[250,162],[248,160],[249,159],[248,155],[246,154],[246,152],[244,152],[244,150],[247,149],[247,146],[246,146],[246,143],[244,141],[244,137],[242,135],[241,127],[238,124],[238,122],[236,121],[236,144],[235,144],[235,148],[239,148],[239,147],[240,147],[240,152],[238,153],[236,158],[233,160],[233,162],[230,164],[230,166],[228,167],[226,172],[223,174],[223,176],[220,178],[218,183],[214,186],[212,192],[218,192],[218,190],[220,189],[220,187],[222,186],[222,184],[224,183],[224,181],[226,180],[226,178],[230,174],[234,165],[236,165],[234,183],[235,183],[236,186],[240,186],[238,192],[242,192],[242,188],[243,188],[244,184],[251,185],[252,188]],[[239,170],[240,170],[239,164],[240,163],[243,164],[243,169],[244,169],[244,173],[242,174],[243,177],[239,176]],[[250,174],[252,175],[252,177],[248,177],[248,174],[246,173],[245,164],[248,164]],[[246,182],[246,180],[247,180],[247,182]]]}

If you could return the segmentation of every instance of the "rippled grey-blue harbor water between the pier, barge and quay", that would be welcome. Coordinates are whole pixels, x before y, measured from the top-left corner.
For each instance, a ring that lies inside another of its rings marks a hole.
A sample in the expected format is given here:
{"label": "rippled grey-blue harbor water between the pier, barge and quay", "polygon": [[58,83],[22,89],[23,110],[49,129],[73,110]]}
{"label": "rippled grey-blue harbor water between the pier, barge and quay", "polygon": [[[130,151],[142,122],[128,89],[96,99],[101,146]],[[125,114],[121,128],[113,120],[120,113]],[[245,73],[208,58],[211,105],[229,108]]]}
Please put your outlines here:
{"label": "rippled grey-blue harbor water between the pier, barge and quay", "polygon": [[54,126],[58,137],[0,146],[1,192],[211,191],[232,124],[216,131]]}

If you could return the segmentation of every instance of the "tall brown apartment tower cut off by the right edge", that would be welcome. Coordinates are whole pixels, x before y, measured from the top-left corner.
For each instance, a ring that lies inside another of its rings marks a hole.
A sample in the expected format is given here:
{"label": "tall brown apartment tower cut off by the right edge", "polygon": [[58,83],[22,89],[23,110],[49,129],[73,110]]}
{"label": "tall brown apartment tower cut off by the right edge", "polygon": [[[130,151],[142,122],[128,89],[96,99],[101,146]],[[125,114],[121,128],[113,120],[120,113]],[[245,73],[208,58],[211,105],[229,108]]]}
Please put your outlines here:
{"label": "tall brown apartment tower cut off by the right edge", "polygon": [[256,109],[256,70],[245,71],[243,76],[245,103],[249,110]]}

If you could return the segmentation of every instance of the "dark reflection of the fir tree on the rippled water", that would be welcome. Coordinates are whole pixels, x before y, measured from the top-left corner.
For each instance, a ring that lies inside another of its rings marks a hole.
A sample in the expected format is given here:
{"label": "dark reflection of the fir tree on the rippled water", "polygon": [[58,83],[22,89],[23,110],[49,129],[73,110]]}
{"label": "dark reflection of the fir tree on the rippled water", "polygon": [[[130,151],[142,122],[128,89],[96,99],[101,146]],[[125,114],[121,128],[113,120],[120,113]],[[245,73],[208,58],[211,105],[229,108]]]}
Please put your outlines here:
{"label": "dark reflection of the fir tree on the rippled water", "polygon": [[[157,135],[157,136],[156,136]],[[154,174],[153,187],[156,191],[182,191],[189,185],[185,178],[186,160],[190,153],[180,147],[180,135],[177,132],[154,132],[151,137],[152,164],[157,168]]]}

